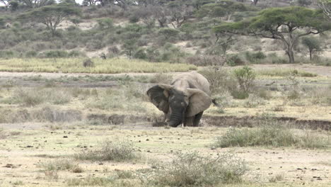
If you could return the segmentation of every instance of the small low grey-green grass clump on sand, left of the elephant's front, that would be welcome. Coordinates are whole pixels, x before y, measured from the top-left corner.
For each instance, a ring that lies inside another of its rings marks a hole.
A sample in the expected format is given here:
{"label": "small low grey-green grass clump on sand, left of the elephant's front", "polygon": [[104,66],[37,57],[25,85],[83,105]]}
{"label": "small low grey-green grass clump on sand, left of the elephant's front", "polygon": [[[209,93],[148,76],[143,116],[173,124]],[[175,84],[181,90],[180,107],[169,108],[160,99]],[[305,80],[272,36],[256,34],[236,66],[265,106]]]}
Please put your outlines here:
{"label": "small low grey-green grass clump on sand, left of the elephant's front", "polygon": [[141,155],[134,151],[132,142],[105,140],[97,149],[80,152],[75,157],[94,161],[124,162],[139,159]]}

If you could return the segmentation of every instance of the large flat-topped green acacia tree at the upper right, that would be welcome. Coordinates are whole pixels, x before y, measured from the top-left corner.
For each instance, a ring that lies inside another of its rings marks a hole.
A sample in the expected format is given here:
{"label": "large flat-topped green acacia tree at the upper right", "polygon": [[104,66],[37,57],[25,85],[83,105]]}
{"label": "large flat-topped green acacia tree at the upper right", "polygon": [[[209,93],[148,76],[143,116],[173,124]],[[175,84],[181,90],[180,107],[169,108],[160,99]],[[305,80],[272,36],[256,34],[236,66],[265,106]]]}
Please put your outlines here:
{"label": "large flat-topped green acacia tree at the upper right", "polygon": [[286,46],[289,62],[294,63],[294,44],[305,35],[323,33],[331,24],[318,10],[301,6],[268,8],[257,16],[236,23],[223,23],[214,28],[216,33],[252,35],[281,40]]}

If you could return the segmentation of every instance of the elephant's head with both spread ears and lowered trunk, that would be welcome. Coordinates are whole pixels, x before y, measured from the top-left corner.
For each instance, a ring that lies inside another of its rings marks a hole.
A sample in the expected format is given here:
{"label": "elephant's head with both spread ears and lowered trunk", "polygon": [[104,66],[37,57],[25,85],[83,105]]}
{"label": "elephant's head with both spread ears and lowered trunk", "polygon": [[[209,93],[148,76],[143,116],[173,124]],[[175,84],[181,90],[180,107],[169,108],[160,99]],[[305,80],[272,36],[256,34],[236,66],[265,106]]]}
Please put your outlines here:
{"label": "elephant's head with both spread ears and lowered trunk", "polygon": [[177,127],[185,118],[194,117],[209,108],[211,98],[199,89],[180,89],[168,84],[158,84],[147,91],[151,103],[168,114],[168,124]]}

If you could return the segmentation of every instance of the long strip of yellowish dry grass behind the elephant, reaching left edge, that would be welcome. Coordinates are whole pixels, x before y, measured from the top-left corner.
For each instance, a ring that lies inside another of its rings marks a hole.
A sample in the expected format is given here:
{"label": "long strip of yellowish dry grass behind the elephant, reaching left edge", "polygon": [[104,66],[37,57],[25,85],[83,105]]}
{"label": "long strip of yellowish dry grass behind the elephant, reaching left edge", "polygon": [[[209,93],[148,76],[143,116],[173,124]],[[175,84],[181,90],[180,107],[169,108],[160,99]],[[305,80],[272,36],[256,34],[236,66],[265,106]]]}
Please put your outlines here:
{"label": "long strip of yellowish dry grass behind the elephant, reaching left edge", "polygon": [[127,72],[187,72],[197,69],[191,64],[152,63],[142,60],[92,59],[94,67],[83,67],[84,59],[9,59],[0,60],[0,71],[4,72],[63,72],[116,74]]}

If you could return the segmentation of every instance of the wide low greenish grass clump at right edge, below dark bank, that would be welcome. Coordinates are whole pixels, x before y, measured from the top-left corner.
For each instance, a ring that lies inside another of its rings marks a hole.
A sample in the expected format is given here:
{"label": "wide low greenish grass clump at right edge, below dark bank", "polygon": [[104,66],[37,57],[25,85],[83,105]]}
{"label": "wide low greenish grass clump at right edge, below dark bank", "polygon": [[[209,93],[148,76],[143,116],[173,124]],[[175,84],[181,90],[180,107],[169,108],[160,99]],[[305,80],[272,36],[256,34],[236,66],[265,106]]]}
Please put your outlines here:
{"label": "wide low greenish grass clump at right edge, below dark bank", "polygon": [[[272,123],[271,123],[272,124]],[[225,135],[218,137],[212,147],[330,147],[330,137],[315,132],[294,132],[282,125],[267,124],[258,128],[230,128]]]}

